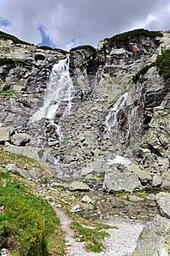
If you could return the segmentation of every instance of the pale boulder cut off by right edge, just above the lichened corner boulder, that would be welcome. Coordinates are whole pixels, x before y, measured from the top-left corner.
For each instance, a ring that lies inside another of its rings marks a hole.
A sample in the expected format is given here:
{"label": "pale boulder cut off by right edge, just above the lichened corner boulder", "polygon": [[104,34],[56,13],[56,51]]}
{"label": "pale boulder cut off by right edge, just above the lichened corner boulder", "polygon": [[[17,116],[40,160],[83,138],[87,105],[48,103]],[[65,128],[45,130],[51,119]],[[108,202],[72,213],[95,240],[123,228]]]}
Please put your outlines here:
{"label": "pale boulder cut off by right edge, just above the lichened corner boulder", "polygon": [[170,219],[170,193],[160,192],[156,195],[155,201],[158,207],[159,214],[162,217]]}

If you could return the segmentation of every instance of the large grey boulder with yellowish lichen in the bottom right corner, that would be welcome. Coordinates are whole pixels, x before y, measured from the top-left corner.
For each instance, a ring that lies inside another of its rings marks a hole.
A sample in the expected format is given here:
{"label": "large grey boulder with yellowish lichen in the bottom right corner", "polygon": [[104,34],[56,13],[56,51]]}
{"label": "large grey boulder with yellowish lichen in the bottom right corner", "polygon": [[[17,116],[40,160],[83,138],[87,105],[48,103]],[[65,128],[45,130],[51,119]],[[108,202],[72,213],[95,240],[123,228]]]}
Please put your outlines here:
{"label": "large grey boulder with yellowish lichen in the bottom right corner", "polygon": [[157,216],[144,226],[131,256],[169,256],[170,220]]}

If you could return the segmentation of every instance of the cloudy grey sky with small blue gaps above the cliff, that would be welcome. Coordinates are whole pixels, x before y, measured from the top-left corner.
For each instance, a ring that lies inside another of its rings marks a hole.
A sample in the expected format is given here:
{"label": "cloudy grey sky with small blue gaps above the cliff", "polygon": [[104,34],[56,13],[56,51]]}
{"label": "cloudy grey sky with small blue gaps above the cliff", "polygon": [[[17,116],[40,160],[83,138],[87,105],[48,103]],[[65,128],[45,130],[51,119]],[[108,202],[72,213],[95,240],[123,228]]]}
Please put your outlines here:
{"label": "cloudy grey sky with small blue gaps above the cliff", "polygon": [[69,50],[133,29],[170,29],[170,0],[0,0],[0,31]]}

